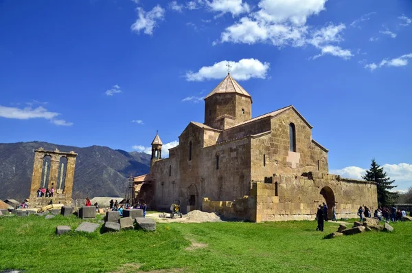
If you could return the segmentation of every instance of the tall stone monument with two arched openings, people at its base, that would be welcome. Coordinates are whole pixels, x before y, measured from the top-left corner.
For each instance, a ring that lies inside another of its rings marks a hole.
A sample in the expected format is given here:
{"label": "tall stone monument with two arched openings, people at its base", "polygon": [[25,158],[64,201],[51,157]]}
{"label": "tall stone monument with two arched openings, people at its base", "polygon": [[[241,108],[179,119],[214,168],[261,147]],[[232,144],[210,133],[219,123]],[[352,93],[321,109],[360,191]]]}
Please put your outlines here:
{"label": "tall stone monument with two arched openings, people at its base", "polygon": [[[30,204],[41,207],[50,204],[71,205],[73,191],[74,169],[77,153],[45,151],[43,148],[34,150],[32,186],[30,187]],[[53,196],[38,197],[39,188],[54,188]]]}

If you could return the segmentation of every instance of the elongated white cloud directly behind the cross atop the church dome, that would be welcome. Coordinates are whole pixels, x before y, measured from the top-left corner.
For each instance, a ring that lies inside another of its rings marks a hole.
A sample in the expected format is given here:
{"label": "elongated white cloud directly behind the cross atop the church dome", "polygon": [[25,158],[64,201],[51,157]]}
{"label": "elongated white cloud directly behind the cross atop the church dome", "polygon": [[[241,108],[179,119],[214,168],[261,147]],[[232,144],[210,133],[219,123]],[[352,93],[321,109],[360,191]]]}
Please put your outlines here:
{"label": "elongated white cloud directly behind the cross atop the church dome", "polygon": [[[228,61],[214,63],[209,67],[201,67],[198,72],[187,72],[186,80],[203,81],[209,79],[222,79],[227,74]],[[249,78],[266,78],[266,72],[270,63],[262,63],[258,59],[243,58],[238,62],[229,61],[231,65],[231,75],[236,80],[249,80]]]}

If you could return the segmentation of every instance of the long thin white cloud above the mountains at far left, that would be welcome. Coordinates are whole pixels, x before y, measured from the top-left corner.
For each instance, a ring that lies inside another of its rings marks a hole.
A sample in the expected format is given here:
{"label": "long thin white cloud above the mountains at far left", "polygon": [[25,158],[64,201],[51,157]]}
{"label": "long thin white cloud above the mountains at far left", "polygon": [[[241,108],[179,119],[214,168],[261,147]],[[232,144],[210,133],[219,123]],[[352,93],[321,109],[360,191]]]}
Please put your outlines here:
{"label": "long thin white cloud above the mountains at far left", "polygon": [[58,126],[71,126],[72,122],[66,122],[65,120],[56,120],[60,113],[47,111],[44,107],[25,107],[23,109],[16,107],[5,107],[0,105],[0,117],[12,118],[17,120],[29,120],[31,118],[45,118],[50,120],[53,124]]}

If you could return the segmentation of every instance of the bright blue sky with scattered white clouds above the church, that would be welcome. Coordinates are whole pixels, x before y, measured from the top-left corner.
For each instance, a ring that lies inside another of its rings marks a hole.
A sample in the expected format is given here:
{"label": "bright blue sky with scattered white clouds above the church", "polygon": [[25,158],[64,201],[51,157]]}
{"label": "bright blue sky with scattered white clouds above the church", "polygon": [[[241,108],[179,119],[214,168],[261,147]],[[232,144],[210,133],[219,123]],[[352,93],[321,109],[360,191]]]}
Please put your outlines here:
{"label": "bright blue sky with scattered white clouds above the church", "polygon": [[330,172],[412,186],[412,1],[0,1],[0,142],[176,145],[232,76],[253,116],[294,105]]}

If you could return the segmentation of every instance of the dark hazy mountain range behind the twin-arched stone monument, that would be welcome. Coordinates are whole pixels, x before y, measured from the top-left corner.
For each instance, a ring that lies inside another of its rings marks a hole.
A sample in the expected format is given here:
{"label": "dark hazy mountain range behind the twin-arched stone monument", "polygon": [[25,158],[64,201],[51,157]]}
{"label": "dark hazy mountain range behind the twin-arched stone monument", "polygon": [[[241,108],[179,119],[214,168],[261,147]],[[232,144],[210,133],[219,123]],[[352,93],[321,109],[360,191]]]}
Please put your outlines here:
{"label": "dark hazy mountain range behind the twin-arched stone monument", "polygon": [[47,142],[0,143],[0,199],[23,200],[30,195],[34,150],[78,153],[73,198],[124,197],[127,177],[150,172],[150,155],[106,146],[76,147]]}

